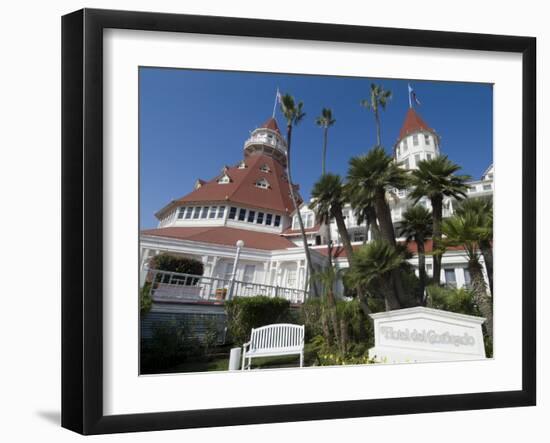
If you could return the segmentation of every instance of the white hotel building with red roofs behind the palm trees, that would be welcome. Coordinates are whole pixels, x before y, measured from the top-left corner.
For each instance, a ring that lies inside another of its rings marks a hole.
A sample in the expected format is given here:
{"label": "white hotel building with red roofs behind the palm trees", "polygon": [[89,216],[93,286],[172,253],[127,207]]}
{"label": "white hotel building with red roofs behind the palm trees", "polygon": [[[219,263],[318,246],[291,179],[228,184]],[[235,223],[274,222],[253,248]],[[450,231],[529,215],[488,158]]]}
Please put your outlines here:
{"label": "white hotel building with red roofs behind the palm trees", "polygon": [[[251,133],[244,143],[243,154],[241,161],[222,167],[215,178],[197,179],[192,192],[169,202],[155,214],[159,220],[156,229],[141,232],[142,285],[151,272],[149,259],[159,253],[170,253],[196,258],[204,265],[201,292],[194,292],[191,298],[208,301],[246,293],[282,296],[294,303],[305,300],[309,280],[306,258],[290,198],[287,145],[275,119],[267,120]],[[438,155],[439,135],[410,108],[394,146],[395,161],[406,169],[415,169],[421,160]],[[294,186],[298,194],[298,187]],[[491,195],[492,192],[491,166],[480,180],[470,183],[468,195]],[[390,202],[396,226],[411,204],[407,191],[400,191]],[[421,200],[419,204],[429,208],[429,201]],[[453,213],[455,204],[452,199],[444,201],[444,217]],[[300,211],[314,267],[320,269],[326,265],[328,229],[334,243],[334,263],[347,267],[336,224],[318,224],[305,203],[301,204]],[[370,233],[365,225],[357,224],[351,207],[344,208],[344,215],[354,247],[369,241]],[[238,242],[244,245],[237,247]],[[409,246],[414,248],[412,244]],[[416,256],[411,261],[417,266]],[[426,265],[431,275],[429,255]],[[442,282],[467,286],[469,274],[464,252],[445,253],[441,272]],[[177,301],[180,296],[176,291],[159,297],[162,301],[170,298]]]}

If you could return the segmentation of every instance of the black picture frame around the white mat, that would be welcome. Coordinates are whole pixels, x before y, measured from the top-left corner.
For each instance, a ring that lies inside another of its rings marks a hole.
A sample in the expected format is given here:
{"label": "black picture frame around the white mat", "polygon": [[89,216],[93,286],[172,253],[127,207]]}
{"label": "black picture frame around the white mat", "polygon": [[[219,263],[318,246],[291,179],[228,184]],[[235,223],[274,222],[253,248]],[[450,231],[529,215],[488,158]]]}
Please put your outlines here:
{"label": "black picture frame around the white mat", "polygon": [[[522,388],[517,391],[131,415],[103,413],[103,30],[171,31],[519,53]],[[458,411],[536,403],[536,39],[83,9],[62,18],[62,426],[82,434]]]}

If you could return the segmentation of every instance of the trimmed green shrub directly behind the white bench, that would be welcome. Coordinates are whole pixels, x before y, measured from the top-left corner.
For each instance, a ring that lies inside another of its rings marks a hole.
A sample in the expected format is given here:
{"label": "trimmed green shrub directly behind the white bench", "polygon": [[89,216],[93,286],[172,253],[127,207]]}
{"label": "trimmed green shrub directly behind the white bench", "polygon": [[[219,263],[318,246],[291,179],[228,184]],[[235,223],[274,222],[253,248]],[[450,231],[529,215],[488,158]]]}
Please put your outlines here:
{"label": "trimmed green shrub directly behind the white bench", "polygon": [[290,302],[263,295],[237,297],[225,302],[227,330],[234,344],[250,340],[252,328],[291,321]]}

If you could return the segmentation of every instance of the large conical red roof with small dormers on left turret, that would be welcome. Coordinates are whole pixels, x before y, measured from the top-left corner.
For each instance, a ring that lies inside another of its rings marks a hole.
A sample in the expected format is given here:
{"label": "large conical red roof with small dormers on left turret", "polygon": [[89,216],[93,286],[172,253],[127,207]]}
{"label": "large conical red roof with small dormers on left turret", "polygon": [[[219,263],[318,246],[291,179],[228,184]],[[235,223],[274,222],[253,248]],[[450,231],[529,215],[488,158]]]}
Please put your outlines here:
{"label": "large conical red roof with small dormers on left turret", "polygon": [[[246,168],[233,166],[226,169],[225,174],[231,179],[230,183],[218,183],[218,176],[176,200],[170,207],[182,203],[228,202],[281,213],[294,211],[286,171],[277,160],[254,153],[244,160],[244,164]],[[264,165],[267,166],[267,172],[260,170]],[[256,186],[256,182],[262,178],[269,183],[268,189]]]}

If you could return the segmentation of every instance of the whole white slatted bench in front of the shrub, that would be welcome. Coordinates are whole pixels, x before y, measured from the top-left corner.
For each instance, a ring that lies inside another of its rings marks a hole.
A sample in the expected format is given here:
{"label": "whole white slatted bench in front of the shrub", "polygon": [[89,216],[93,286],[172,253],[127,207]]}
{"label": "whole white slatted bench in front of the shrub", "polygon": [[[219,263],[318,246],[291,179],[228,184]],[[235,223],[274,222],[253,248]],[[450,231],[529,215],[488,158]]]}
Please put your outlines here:
{"label": "whole white slatted bench in front of the shrub", "polygon": [[279,323],[252,329],[250,341],[243,345],[241,369],[250,369],[253,358],[281,355],[299,355],[300,367],[304,366],[303,325]]}

